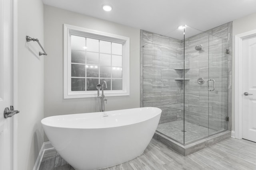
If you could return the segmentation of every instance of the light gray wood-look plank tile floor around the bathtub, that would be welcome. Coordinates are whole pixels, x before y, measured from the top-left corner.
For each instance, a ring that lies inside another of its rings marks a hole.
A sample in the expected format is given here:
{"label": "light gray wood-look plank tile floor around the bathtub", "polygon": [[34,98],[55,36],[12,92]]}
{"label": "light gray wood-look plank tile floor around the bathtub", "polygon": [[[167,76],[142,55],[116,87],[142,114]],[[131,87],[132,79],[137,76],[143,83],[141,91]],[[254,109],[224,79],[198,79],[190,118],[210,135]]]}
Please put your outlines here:
{"label": "light gray wood-look plank tile floor around the bathtub", "polygon": [[[74,170],[55,150],[44,153],[40,170]],[[152,139],[144,153],[102,170],[256,170],[256,143],[229,138],[186,157]]]}

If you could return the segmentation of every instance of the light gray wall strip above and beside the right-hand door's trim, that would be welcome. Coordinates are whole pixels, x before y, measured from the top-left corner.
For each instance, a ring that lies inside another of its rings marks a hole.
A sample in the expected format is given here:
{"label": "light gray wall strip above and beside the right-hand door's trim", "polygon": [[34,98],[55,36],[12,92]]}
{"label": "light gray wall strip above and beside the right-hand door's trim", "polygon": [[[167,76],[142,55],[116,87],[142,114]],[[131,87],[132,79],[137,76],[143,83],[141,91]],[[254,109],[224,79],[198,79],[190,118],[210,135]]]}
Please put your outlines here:
{"label": "light gray wall strip above and beside the right-hand door's trim", "polygon": [[[240,33],[245,33],[248,31],[252,31],[256,29],[256,13],[248,15],[246,17],[240,18],[238,20],[234,20],[233,21],[233,43],[234,43],[234,36],[238,35]],[[234,51],[233,47],[233,51]],[[234,53],[233,53],[233,57],[234,57]],[[233,64],[233,68],[232,71],[234,72],[234,64]],[[234,84],[234,75],[233,75],[233,84]],[[235,124],[234,124],[234,106],[235,106],[235,101],[234,101],[234,86],[232,86],[233,88],[233,98],[232,98],[232,130],[235,130]]]}

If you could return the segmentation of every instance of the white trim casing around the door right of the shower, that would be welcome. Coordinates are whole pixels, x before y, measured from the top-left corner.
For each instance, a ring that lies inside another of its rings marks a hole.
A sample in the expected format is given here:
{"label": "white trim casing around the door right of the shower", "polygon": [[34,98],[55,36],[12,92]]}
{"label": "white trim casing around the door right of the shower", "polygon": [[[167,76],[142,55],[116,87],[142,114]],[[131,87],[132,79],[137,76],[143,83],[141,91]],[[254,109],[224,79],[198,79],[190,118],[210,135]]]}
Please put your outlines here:
{"label": "white trim casing around the door right of the shower", "polygon": [[242,139],[242,41],[245,38],[256,35],[256,29],[235,35],[235,100],[234,100],[234,119],[235,119],[235,138]]}

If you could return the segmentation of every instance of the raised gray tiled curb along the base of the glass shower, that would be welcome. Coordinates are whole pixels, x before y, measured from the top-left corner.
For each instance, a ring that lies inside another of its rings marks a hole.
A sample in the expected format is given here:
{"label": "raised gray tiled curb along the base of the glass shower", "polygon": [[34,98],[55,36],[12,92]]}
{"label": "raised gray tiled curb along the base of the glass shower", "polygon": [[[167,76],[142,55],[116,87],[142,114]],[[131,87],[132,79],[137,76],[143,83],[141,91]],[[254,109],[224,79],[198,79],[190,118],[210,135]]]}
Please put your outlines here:
{"label": "raised gray tiled curb along the base of the glass shower", "polygon": [[160,141],[161,143],[166,145],[168,148],[175,150],[176,152],[178,152],[183,156],[188,156],[194,152],[207,148],[220,141],[224,141],[225,139],[228,139],[230,137],[231,137],[231,131],[224,131],[224,132],[209,136],[207,138],[201,139],[194,143],[190,143],[188,145],[182,145],[158,132],[155,132],[153,136],[154,139],[156,139],[157,141]]}

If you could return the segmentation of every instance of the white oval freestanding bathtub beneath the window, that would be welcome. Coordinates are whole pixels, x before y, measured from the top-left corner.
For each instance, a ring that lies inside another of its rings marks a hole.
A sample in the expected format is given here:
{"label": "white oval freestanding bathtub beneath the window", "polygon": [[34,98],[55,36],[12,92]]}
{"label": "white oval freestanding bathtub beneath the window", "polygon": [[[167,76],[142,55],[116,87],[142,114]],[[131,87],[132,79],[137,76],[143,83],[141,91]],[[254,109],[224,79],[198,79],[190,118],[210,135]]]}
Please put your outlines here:
{"label": "white oval freestanding bathtub beneath the window", "polygon": [[142,107],[46,117],[41,123],[57,152],[76,170],[121,164],[144,152],[161,109]]}

